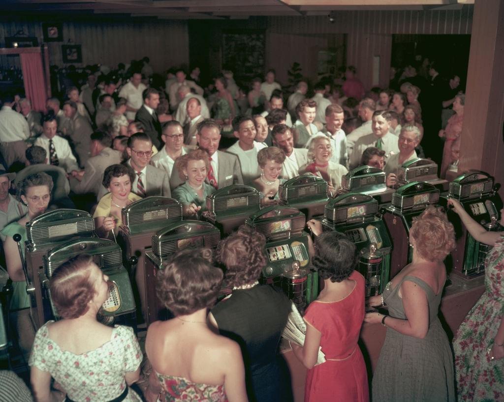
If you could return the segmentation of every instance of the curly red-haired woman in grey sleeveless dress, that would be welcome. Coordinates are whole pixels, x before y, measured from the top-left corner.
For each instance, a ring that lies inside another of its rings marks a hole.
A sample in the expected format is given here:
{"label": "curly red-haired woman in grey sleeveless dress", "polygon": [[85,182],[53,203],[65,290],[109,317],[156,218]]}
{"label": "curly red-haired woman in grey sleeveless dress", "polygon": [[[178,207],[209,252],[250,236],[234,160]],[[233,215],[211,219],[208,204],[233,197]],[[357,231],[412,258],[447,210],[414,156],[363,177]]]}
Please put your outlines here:
{"label": "curly red-haired woman in grey sleeveless dress", "polygon": [[437,317],[446,281],[445,257],[455,247],[453,225],[444,212],[427,208],[414,221],[409,242],[413,260],[369,298],[389,315],[367,313],[387,336],[372,381],[376,401],[455,401],[453,355]]}

